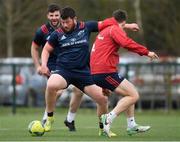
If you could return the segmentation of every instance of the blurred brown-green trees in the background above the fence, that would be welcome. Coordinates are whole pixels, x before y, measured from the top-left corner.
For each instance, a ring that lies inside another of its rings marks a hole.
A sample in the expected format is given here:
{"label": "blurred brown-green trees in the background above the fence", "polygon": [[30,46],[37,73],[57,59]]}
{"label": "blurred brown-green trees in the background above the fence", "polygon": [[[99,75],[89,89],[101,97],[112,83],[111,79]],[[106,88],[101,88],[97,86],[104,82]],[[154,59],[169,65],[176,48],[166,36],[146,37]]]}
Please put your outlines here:
{"label": "blurred brown-green trees in the background above the fence", "polygon": [[83,21],[103,20],[115,9],[124,9],[127,22],[137,21],[141,26],[139,34],[128,32],[130,37],[159,54],[180,56],[179,0],[0,0],[1,57],[30,57],[34,32],[46,21],[52,2],[73,7]]}

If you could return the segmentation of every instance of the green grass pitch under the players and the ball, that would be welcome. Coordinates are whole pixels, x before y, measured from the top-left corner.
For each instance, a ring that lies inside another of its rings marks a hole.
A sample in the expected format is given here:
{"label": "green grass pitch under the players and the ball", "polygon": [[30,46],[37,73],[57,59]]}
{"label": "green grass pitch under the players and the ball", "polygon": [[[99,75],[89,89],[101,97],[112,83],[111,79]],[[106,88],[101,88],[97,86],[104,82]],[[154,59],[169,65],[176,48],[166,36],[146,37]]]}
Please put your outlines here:
{"label": "green grass pitch under the players and the ball", "polygon": [[152,129],[134,136],[126,134],[126,118],[122,114],[112,125],[118,136],[106,138],[98,136],[95,110],[80,109],[76,117],[77,132],[69,132],[63,124],[67,109],[57,108],[53,130],[42,137],[32,137],[28,124],[41,120],[43,108],[18,108],[16,115],[10,109],[0,108],[0,141],[180,141],[180,111],[136,112],[136,121],[149,124]]}

